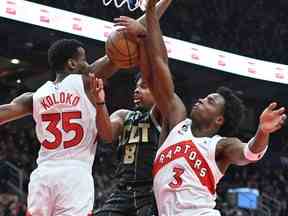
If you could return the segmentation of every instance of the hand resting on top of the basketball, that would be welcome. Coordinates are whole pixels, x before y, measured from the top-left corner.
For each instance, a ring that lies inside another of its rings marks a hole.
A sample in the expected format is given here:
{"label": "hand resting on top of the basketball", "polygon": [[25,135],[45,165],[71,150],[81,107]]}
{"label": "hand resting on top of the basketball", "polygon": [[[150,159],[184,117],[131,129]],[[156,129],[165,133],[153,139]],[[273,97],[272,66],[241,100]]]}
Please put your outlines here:
{"label": "hand resting on top of the basketball", "polygon": [[134,37],[136,40],[139,37],[144,37],[146,35],[145,27],[135,19],[127,16],[120,16],[114,19],[114,26],[119,27],[117,31],[124,31],[130,36]]}

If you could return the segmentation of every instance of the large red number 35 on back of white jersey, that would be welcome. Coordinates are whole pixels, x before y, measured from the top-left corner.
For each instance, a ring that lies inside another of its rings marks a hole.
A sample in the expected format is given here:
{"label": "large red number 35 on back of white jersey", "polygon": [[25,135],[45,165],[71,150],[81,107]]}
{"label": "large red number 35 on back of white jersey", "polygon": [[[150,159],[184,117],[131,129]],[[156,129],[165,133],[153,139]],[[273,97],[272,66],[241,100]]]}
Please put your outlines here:
{"label": "large red number 35 on back of white jersey", "polygon": [[64,113],[49,113],[43,114],[42,121],[49,122],[46,130],[49,131],[51,134],[54,135],[55,139],[53,142],[48,141],[45,139],[42,142],[42,145],[47,149],[56,149],[62,143],[62,131],[57,128],[57,125],[60,121],[62,121],[62,128],[63,130],[68,133],[70,131],[75,132],[75,136],[68,141],[63,142],[64,148],[70,148],[73,146],[78,145],[84,136],[84,130],[82,126],[78,123],[71,123],[70,120],[72,119],[81,119],[82,114],[80,111],[78,112],[64,112]]}

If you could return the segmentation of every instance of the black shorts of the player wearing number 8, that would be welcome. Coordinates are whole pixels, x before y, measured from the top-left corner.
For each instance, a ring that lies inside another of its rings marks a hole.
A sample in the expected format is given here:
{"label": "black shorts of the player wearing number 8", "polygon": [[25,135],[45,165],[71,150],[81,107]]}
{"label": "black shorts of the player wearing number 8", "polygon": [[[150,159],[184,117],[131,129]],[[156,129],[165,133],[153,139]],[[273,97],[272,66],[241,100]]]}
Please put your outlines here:
{"label": "black shorts of the player wearing number 8", "polygon": [[95,216],[157,216],[151,186],[118,186]]}

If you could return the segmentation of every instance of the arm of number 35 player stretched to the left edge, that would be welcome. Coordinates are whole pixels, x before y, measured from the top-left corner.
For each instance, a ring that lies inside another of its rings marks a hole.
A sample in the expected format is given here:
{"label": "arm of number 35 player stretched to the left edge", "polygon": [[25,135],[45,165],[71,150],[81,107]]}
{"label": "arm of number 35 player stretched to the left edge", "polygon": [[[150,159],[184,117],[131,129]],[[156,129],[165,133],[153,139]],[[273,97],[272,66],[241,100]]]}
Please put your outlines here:
{"label": "arm of number 35 player stretched to the left edge", "polygon": [[33,112],[33,93],[24,93],[9,104],[0,105],[0,125],[30,115]]}

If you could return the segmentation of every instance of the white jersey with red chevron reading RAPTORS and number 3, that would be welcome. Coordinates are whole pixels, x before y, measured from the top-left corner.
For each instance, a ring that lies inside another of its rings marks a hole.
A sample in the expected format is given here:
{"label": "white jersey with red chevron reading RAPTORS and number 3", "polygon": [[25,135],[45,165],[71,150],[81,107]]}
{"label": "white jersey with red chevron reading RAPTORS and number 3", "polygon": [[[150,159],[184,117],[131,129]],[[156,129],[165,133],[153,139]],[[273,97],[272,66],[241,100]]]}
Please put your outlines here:
{"label": "white jersey with red chevron reading RAPTORS and number 3", "polygon": [[160,216],[220,215],[215,207],[216,185],[222,173],[215,150],[222,138],[195,137],[192,121],[176,125],[154,160],[154,193]]}

